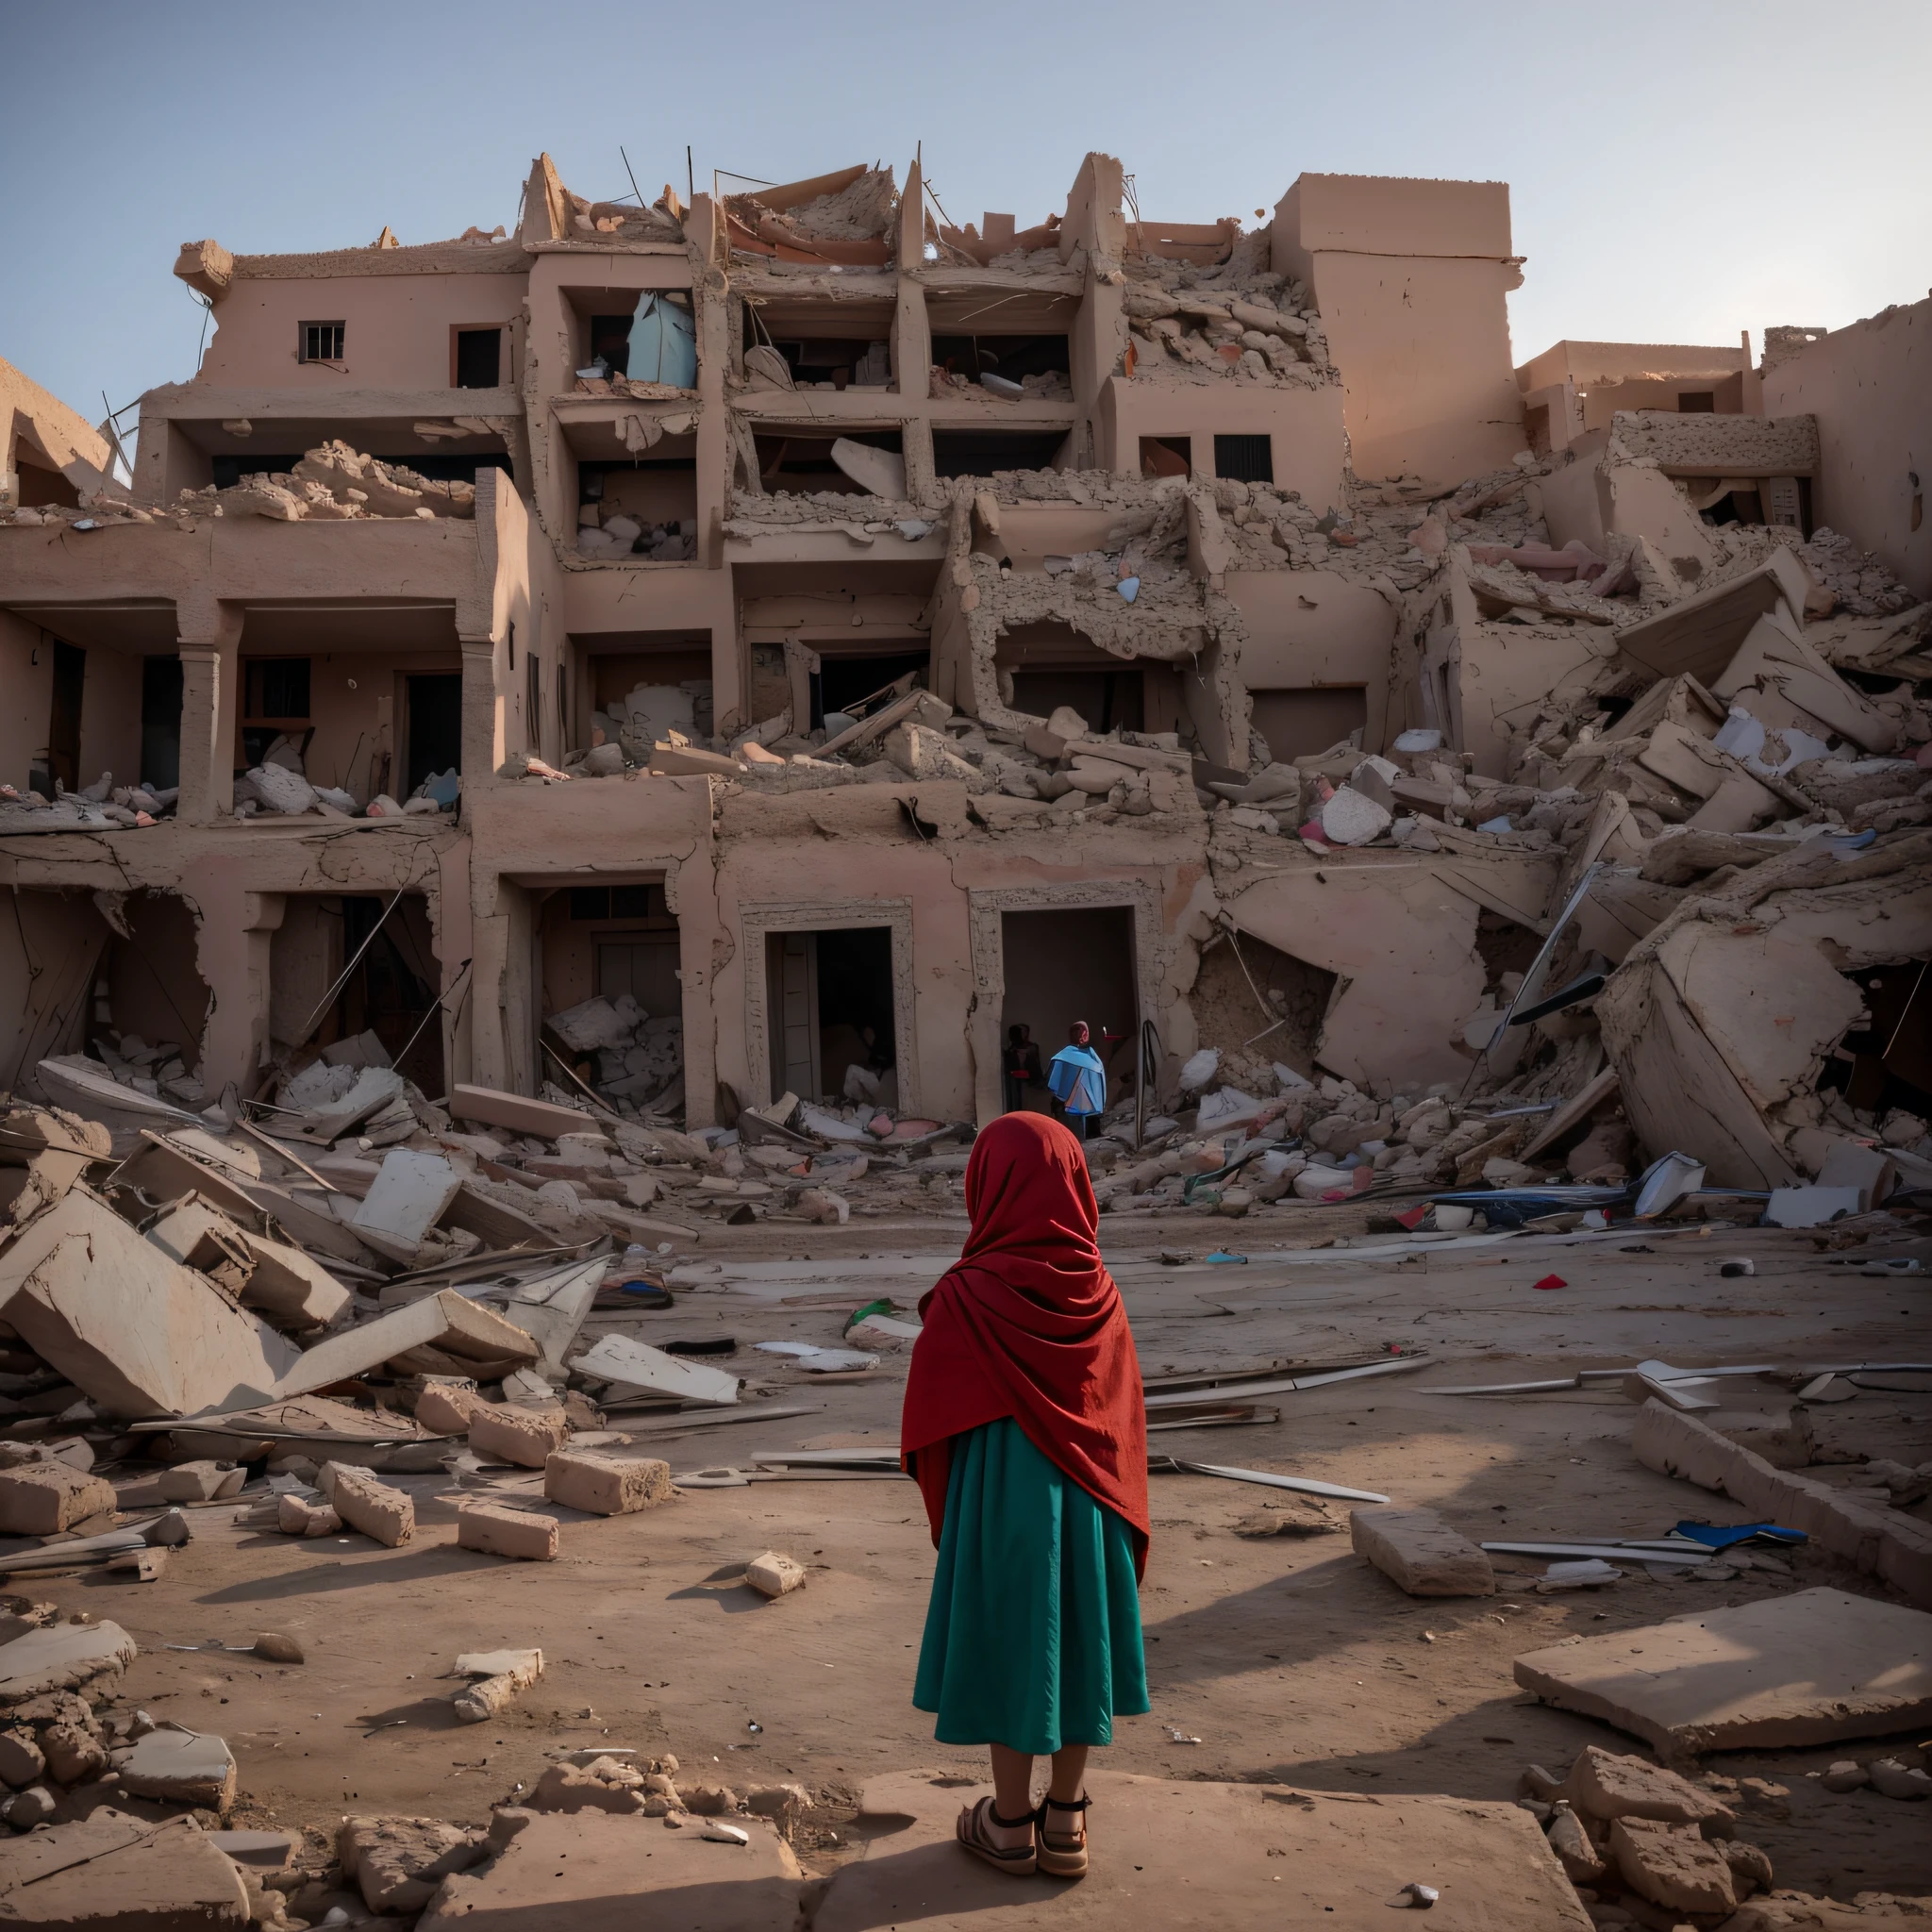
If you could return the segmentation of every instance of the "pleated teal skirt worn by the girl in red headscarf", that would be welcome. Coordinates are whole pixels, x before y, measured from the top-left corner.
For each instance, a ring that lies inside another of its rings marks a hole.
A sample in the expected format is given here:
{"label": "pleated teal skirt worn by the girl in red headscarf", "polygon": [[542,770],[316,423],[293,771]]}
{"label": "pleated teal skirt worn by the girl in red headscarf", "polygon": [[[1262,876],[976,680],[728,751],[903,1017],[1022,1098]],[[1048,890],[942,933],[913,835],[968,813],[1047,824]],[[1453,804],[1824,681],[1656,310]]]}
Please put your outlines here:
{"label": "pleated teal skirt worn by the girl in red headscarf", "polygon": [[912,1704],[941,1745],[1034,1756],[1150,1710],[1132,1530],[1010,1416],[952,1441]]}

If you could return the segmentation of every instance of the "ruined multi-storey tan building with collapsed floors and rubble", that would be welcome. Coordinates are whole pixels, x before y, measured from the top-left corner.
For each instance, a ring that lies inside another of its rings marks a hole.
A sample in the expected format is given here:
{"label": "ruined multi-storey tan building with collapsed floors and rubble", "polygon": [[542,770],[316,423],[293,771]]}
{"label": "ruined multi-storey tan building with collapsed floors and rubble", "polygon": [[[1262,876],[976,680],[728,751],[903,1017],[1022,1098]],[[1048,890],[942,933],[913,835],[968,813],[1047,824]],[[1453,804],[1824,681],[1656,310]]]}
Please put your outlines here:
{"label": "ruined multi-storey tan building with collapsed floors and rubble", "polygon": [[1932,1179],[1932,303],[1515,367],[1507,187],[1256,222],[545,156],[514,232],[185,245],[128,487],[10,375],[0,1088],[918,1138],[1084,1018],[1122,1148]]}

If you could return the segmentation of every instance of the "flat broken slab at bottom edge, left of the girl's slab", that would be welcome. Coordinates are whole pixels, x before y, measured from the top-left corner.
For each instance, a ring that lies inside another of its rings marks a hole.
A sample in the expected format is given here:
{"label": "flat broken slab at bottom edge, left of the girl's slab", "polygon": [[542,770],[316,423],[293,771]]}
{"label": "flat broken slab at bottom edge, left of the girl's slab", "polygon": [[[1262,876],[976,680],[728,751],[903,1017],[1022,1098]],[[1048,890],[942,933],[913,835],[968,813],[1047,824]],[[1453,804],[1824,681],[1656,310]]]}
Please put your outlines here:
{"label": "flat broken slab at bottom edge, left of the girl's slab", "polygon": [[562,1924],[570,1932],[641,1924],[651,1932],[792,1932],[804,1874],[790,1845],[763,1818],[736,1824],[750,1845],[707,1839],[701,1820],[667,1830],[663,1818],[539,1812],[487,1872],[446,1878],[415,1932],[554,1932]]}

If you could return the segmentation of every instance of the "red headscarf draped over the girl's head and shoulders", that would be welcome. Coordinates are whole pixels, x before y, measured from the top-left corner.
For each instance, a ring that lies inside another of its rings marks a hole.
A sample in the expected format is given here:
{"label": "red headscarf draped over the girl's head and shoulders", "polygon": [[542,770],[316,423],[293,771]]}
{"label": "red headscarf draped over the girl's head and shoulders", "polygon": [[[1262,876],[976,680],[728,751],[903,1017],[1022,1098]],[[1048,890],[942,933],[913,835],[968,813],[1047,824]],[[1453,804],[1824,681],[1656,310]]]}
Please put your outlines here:
{"label": "red headscarf draped over the girl's head and shoulders", "polygon": [[1134,1530],[1148,1561],[1148,1414],[1121,1291],[1099,1258],[1080,1142],[1009,1113],[966,1163],[972,1233],[920,1300],[900,1451],[945,1520],[952,1437],[1012,1416],[1028,1441]]}

